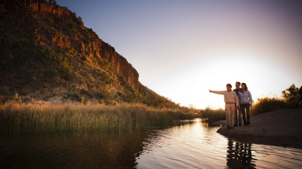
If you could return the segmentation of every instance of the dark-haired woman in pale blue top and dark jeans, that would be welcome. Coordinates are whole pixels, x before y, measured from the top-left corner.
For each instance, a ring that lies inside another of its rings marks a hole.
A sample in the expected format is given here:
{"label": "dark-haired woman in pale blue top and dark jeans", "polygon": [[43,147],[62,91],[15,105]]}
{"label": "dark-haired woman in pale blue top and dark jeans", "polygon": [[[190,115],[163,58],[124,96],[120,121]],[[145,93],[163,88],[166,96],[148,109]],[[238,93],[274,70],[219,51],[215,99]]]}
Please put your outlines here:
{"label": "dark-haired woman in pale blue top and dark jeans", "polygon": [[[247,90],[247,86],[245,83],[241,84],[241,88],[242,90],[238,92],[238,100],[243,116],[244,125],[245,127],[249,127],[249,125],[251,124],[249,120],[249,109],[252,108],[253,99],[251,93],[249,92],[249,90]],[[246,111],[246,118],[245,118],[245,111]]]}

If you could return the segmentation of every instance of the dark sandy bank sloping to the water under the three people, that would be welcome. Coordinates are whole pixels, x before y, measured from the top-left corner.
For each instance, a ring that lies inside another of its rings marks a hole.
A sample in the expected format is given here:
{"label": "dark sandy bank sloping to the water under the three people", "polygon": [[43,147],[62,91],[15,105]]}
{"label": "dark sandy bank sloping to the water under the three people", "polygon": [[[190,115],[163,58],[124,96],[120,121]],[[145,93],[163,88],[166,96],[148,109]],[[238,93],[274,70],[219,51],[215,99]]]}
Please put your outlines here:
{"label": "dark sandy bank sloping to the water under the three people", "polygon": [[249,127],[227,131],[227,120],[217,121],[217,133],[230,139],[251,143],[302,149],[302,109],[282,109],[250,118]]}

